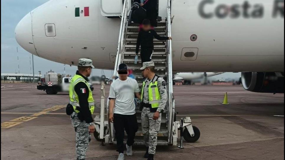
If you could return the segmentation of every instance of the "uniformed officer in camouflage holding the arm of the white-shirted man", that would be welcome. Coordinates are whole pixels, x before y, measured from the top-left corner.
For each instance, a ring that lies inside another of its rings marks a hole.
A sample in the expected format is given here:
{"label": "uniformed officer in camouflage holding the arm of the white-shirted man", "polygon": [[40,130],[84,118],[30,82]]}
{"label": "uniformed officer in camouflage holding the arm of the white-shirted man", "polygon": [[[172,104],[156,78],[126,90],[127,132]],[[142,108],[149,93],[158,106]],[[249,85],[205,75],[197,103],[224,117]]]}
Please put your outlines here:
{"label": "uniformed officer in camouflage holding the arm of the white-shirted man", "polygon": [[166,82],[154,73],[154,63],[144,62],[142,75],[145,78],[141,89],[142,133],[147,147],[145,158],[153,160],[160,129],[161,112],[166,106]]}

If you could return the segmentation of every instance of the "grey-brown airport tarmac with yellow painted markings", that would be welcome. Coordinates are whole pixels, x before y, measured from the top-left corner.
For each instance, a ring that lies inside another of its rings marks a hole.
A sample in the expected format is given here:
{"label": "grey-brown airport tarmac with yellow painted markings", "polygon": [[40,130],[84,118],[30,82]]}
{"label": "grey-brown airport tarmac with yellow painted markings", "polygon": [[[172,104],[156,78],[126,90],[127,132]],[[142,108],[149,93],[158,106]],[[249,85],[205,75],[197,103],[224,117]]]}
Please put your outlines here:
{"label": "grey-brown airport tarmac with yellow painted markings", "polygon": [[[1,159],[76,159],[67,93],[47,95],[37,84],[1,84]],[[158,146],[156,160],[284,159],[284,94],[253,93],[242,86],[173,86],[177,119],[191,116],[201,132],[195,143]],[[229,105],[222,105],[225,92]],[[94,86],[100,113],[100,86]],[[106,96],[109,85],[106,86]],[[106,97],[107,99],[107,97]],[[2,128],[9,127],[9,128]],[[115,145],[92,136],[87,159],[117,159]],[[144,146],[133,146],[143,159]]]}

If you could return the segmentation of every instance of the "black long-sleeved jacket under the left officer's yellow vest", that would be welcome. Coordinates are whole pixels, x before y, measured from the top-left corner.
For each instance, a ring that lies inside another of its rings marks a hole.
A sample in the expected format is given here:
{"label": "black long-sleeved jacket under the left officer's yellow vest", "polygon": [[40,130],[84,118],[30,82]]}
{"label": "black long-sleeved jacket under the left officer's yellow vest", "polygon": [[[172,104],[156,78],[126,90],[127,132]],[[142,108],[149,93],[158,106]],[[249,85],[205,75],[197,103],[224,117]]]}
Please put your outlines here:
{"label": "black long-sleeved jacket under the left officer's yellow vest", "polygon": [[[86,81],[89,81],[89,79],[86,76],[83,76],[78,71],[76,71],[76,74],[82,76]],[[84,88],[86,92],[81,93],[81,90]],[[80,119],[81,121],[86,121],[86,123],[93,122],[93,118],[89,110],[89,103],[88,103],[89,87],[86,86],[84,82],[78,82],[74,86],[74,91],[78,95],[79,105],[80,105],[80,109],[79,109],[80,112],[78,114],[78,119]]]}

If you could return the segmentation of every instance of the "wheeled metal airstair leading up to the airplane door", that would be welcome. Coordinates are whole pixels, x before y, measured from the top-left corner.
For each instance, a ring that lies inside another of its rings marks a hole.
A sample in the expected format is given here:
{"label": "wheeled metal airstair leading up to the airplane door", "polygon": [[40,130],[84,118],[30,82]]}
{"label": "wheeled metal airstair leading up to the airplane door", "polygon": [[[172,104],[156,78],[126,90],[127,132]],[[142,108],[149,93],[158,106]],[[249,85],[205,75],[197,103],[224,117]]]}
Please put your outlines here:
{"label": "wheeled metal airstair leading up to the airplane door", "polygon": [[[130,10],[131,1],[124,1],[122,9],[122,19],[118,40],[117,56],[114,67],[114,74],[117,73],[117,68],[119,64],[126,63],[127,66],[133,70],[133,74],[139,86],[142,85],[142,74],[141,74],[141,59],[138,58],[137,64],[135,61],[135,48],[138,35],[138,24],[131,23],[128,24],[128,11]],[[168,5],[165,8],[167,10],[166,19],[158,22],[158,26],[155,27],[155,31],[160,36],[171,36],[171,0],[168,0]],[[158,41],[154,39],[154,51],[151,61],[155,63],[155,73],[163,77],[167,82],[167,104],[162,113],[160,130],[158,132],[158,145],[177,145],[177,138],[180,137],[180,131],[178,131],[180,124],[183,126],[183,136],[188,142],[194,142],[199,139],[199,130],[191,124],[190,117],[181,119],[181,121],[176,121],[175,113],[175,100],[173,96],[173,84],[172,84],[172,49],[171,40]],[[101,101],[102,102],[102,101]],[[108,103],[107,103],[107,113],[108,113]],[[143,134],[141,129],[141,111],[139,110],[140,105],[136,107],[137,122],[139,124],[139,129],[135,136],[135,144],[144,144]],[[95,123],[96,130],[100,129],[100,133],[94,134],[97,136],[97,140],[102,140],[105,143],[116,144],[115,133],[113,124],[104,120],[104,107],[101,106],[101,115],[96,116]],[[108,115],[108,114],[107,114]],[[182,130],[182,127],[180,127]],[[126,136],[126,134],[125,134]],[[182,135],[181,135],[182,136]],[[127,137],[125,141],[127,140]],[[180,144],[182,147],[182,144]]]}

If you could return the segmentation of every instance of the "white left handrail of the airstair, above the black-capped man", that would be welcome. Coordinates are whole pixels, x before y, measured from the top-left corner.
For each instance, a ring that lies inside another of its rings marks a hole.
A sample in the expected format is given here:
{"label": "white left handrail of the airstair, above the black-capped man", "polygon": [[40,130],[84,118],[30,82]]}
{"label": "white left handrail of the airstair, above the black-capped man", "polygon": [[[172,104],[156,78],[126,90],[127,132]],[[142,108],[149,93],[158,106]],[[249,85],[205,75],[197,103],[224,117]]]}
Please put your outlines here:
{"label": "white left handrail of the airstair, above the black-capped man", "polygon": [[115,67],[114,67],[114,75],[117,75],[117,67],[120,64],[119,61],[121,61],[121,53],[123,49],[123,39],[124,39],[124,33],[125,33],[125,22],[127,20],[127,3],[128,0],[124,1],[123,5],[123,11],[122,11],[122,19],[121,19],[121,26],[120,26],[120,32],[119,32],[119,39],[118,39],[118,47],[117,47],[117,55],[116,55],[116,61],[115,61]]}

